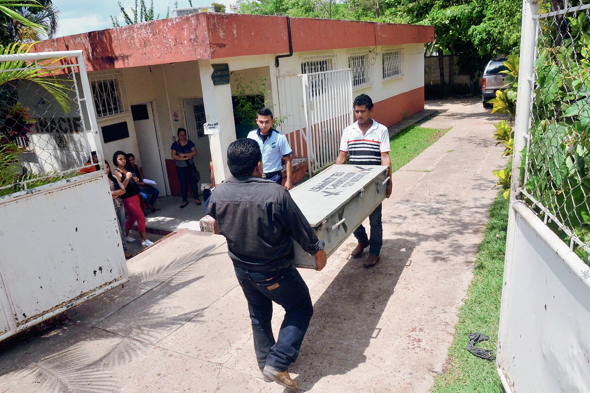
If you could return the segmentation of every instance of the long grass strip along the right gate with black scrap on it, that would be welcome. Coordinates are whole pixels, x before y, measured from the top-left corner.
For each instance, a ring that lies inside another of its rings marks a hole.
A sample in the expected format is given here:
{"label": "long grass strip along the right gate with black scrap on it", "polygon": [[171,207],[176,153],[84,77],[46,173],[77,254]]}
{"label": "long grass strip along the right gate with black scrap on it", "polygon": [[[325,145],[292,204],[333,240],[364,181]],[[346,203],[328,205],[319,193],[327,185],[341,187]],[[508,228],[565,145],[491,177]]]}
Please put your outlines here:
{"label": "long grass strip along the right gate with black scrap on it", "polygon": [[448,351],[448,364],[443,374],[435,379],[431,388],[433,393],[503,392],[496,364],[476,358],[467,351],[467,334],[480,332],[490,340],[477,346],[496,352],[508,225],[508,201],[501,191],[490,207],[489,216],[483,241],[477,250],[467,299],[459,310],[455,339]]}

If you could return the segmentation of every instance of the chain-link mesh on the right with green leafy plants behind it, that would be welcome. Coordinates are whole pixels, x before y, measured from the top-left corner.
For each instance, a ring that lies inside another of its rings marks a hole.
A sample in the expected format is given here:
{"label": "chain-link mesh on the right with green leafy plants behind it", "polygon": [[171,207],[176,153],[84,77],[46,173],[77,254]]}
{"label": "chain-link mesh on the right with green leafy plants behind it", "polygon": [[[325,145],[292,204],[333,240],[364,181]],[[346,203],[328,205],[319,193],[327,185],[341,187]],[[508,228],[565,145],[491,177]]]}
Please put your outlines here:
{"label": "chain-link mesh on the right with green leafy plants behind it", "polygon": [[588,3],[545,1],[535,16],[536,61],[523,154],[527,202],[586,262],[590,256]]}

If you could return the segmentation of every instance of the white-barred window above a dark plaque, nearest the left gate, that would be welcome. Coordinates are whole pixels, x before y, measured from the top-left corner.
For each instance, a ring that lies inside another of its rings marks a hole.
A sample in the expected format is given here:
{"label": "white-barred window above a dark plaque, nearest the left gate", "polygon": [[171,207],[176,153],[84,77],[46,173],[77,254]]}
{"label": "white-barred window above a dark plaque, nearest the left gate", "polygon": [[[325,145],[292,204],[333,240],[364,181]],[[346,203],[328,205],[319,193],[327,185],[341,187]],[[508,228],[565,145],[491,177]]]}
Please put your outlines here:
{"label": "white-barred window above a dark plaque, nearest the left gate", "polygon": [[90,77],[96,117],[106,117],[127,112],[124,102],[122,74],[97,75]]}

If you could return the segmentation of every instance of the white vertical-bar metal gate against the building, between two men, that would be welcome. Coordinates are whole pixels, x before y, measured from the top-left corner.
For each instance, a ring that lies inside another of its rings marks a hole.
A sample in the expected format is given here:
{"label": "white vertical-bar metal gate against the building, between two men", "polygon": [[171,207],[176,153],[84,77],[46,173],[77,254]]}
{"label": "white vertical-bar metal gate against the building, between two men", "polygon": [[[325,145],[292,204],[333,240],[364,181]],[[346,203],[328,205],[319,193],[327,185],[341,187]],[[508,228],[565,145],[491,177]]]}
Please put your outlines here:
{"label": "white vertical-bar metal gate against the building, between two men", "polygon": [[342,130],[352,123],[352,70],[280,75],[278,102],[295,157],[306,157],[310,176],[336,161]]}

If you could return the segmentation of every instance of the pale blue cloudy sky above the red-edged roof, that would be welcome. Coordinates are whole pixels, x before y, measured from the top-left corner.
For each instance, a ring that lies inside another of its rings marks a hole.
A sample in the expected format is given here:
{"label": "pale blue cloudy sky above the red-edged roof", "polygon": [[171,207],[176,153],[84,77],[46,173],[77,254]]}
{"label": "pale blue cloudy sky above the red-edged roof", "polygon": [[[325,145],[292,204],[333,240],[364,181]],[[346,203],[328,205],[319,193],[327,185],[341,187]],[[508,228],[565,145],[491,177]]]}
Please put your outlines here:
{"label": "pale blue cloudy sky above the red-edged roof", "polygon": [[[156,15],[160,14],[160,18],[164,18],[166,16],[166,9],[168,7],[171,10],[174,8],[174,1],[154,0],[154,13]],[[146,0],[148,6],[149,2],[150,0]],[[211,2],[225,4],[225,8],[229,9],[230,0],[192,0],[192,5],[210,5]],[[129,10],[129,15],[132,15],[130,8],[135,7],[135,0],[122,0],[121,4],[126,10]],[[113,23],[111,22],[110,15],[118,16],[119,24],[122,26],[125,25],[123,15],[117,5],[117,0],[53,0],[53,5],[60,10],[60,25],[57,31],[57,37],[112,28]],[[178,8],[189,6],[188,0],[178,0]]]}

